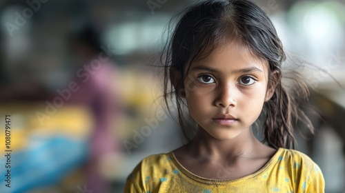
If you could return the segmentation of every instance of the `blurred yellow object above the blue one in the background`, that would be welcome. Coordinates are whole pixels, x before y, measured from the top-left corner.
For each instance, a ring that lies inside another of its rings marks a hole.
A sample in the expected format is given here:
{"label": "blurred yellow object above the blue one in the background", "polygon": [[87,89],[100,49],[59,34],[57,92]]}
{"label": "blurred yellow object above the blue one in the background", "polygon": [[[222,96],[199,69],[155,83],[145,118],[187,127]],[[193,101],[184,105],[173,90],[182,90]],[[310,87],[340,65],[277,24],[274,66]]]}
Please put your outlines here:
{"label": "blurred yellow object above the blue one in the background", "polygon": [[[88,108],[81,105],[63,105],[54,114],[45,112],[44,103],[10,103],[1,105],[0,128],[5,129],[5,117],[10,115],[10,149],[12,151],[26,148],[28,137],[36,135],[63,135],[72,139],[85,139],[90,136],[93,120]],[[39,121],[37,112],[46,114],[46,119]],[[48,118],[49,117],[49,118]],[[43,124],[41,124],[43,123]],[[6,132],[0,133],[1,141],[5,141]],[[3,140],[2,140],[3,139]],[[6,144],[0,145],[0,151],[6,149]]]}

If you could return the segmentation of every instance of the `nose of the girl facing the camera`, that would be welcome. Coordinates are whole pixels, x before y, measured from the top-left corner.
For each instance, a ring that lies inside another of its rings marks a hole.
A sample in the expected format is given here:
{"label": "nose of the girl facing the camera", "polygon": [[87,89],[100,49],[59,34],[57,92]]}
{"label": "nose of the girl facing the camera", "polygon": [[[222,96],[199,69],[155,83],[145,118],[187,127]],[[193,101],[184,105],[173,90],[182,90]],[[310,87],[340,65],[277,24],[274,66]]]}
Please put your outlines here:
{"label": "nose of the girl facing the camera", "polygon": [[235,107],[237,104],[236,100],[237,88],[235,85],[225,84],[219,85],[217,96],[215,99],[215,105],[221,108]]}

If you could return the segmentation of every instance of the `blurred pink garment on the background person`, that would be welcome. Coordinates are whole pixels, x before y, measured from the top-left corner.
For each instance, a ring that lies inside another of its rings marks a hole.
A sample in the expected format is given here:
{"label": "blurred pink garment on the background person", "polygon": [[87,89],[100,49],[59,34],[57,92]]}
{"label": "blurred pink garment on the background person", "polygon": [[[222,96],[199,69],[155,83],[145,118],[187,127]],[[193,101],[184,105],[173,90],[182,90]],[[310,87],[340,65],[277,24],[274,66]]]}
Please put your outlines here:
{"label": "blurred pink garment on the background person", "polygon": [[92,128],[89,143],[89,160],[86,164],[87,187],[94,192],[108,192],[109,183],[103,179],[98,171],[98,163],[102,156],[112,152],[118,152],[120,145],[112,136],[110,119],[116,119],[116,96],[112,96],[110,87],[113,86],[115,66],[111,63],[102,63],[99,69],[88,71],[84,68],[90,65],[86,63],[77,69],[75,82],[79,90],[72,92],[66,104],[83,105],[90,108],[95,125]]}

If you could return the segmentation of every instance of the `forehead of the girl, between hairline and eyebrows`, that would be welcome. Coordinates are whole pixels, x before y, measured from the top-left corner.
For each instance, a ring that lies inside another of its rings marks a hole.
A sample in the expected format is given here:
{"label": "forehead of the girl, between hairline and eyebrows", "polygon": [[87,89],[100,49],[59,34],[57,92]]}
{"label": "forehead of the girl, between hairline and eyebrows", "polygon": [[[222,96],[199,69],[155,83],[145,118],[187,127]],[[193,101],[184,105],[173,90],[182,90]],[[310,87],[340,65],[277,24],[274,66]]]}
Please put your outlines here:
{"label": "forehead of the girl, between hairline and eyebrows", "polygon": [[248,46],[236,41],[224,43],[211,51],[208,50],[204,57],[199,57],[190,67],[193,68],[196,65],[208,65],[222,71],[250,67],[259,68],[263,72],[268,71],[267,60],[258,57]]}

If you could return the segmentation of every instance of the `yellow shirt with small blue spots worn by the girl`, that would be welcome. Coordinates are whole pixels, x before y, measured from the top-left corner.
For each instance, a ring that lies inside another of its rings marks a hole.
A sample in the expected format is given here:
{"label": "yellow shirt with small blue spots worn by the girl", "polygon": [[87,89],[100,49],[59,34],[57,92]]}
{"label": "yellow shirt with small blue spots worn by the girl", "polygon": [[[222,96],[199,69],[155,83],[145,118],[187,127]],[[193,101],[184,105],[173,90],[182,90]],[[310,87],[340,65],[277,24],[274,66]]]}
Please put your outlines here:
{"label": "yellow shirt with small blue spots worn by the girl", "polygon": [[143,159],[128,176],[125,192],[324,192],[324,177],[306,154],[284,148],[257,172],[235,180],[192,174],[169,152]]}

